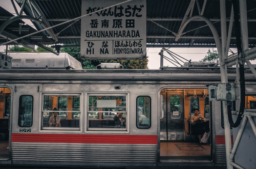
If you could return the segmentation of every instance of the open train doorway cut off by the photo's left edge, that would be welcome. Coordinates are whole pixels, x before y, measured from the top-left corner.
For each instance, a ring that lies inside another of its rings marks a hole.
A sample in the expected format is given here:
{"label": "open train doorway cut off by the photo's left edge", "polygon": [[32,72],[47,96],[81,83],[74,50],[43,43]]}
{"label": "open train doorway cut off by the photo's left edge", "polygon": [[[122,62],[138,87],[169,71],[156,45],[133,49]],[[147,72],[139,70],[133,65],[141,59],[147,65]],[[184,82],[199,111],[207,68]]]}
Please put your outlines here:
{"label": "open train doorway cut off by the photo's left edge", "polygon": [[9,116],[11,113],[11,90],[0,87],[0,158],[9,157]]}

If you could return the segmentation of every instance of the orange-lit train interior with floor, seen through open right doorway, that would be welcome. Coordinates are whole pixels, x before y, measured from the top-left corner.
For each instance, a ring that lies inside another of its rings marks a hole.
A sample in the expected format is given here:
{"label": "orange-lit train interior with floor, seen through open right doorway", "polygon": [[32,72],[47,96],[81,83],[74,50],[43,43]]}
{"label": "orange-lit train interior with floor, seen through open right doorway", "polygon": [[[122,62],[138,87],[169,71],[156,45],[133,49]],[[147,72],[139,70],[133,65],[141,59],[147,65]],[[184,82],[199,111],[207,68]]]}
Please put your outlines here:
{"label": "orange-lit train interior with floor, seen through open right doorway", "polygon": [[[208,89],[163,89],[160,94],[163,96],[160,160],[210,160],[211,114]],[[201,138],[204,137],[202,143],[190,123],[195,109],[199,109],[199,113],[208,122],[208,130],[204,128],[205,132],[201,134]]]}

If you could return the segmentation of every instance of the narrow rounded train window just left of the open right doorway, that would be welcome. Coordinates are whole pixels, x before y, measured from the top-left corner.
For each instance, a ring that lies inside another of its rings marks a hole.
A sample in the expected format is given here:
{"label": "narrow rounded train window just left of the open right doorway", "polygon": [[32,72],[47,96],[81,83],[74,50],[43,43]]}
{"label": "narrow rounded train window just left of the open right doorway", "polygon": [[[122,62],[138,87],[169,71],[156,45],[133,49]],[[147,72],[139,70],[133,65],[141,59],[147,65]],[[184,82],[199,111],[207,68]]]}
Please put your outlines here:
{"label": "narrow rounded train window just left of the open right doorway", "polygon": [[150,96],[137,97],[137,128],[151,127],[151,98]]}

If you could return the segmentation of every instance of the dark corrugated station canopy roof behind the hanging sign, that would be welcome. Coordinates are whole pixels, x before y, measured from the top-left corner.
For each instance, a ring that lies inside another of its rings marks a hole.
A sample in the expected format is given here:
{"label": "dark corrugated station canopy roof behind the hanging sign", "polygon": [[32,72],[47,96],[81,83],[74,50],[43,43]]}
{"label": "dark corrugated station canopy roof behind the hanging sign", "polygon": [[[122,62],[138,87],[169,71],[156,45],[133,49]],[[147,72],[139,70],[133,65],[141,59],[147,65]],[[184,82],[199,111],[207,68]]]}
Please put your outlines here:
{"label": "dark corrugated station canopy roof behind the hanging sign", "polygon": [[[0,7],[0,32],[1,28],[4,27],[0,34],[1,44],[5,43],[7,38],[13,40],[81,16],[81,0],[16,0],[14,3],[17,3],[23,9],[24,14],[13,19],[14,15]],[[227,29],[231,6],[232,1],[226,1]],[[18,9],[16,14],[19,13],[21,12]],[[202,15],[210,19],[214,23],[219,36],[221,36],[220,1],[147,0],[147,46],[214,47],[215,40],[212,32],[206,22],[201,19],[189,22],[181,37],[176,39],[182,22],[196,15]],[[253,47],[256,45],[256,1],[254,0],[247,0],[247,18],[249,47]],[[32,20],[35,29],[25,24],[26,19]],[[10,23],[6,26],[7,21],[10,21]],[[38,44],[80,45],[80,36],[81,19],[77,19],[9,44],[21,44],[26,47],[33,47],[33,45]],[[236,46],[234,23],[230,46]]]}

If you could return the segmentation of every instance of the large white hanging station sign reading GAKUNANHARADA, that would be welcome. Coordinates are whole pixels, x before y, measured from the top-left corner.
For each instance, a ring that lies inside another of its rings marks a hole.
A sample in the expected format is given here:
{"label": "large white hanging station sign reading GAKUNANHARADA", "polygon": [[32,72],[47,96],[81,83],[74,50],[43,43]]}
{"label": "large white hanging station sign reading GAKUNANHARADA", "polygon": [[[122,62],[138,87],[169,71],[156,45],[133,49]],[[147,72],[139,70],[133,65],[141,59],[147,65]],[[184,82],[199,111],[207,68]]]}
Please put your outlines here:
{"label": "large white hanging station sign reading GAKUNANHARADA", "polygon": [[85,59],[145,59],[146,0],[82,0],[81,56]]}

